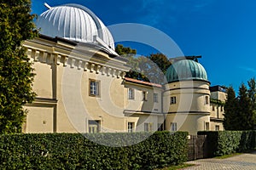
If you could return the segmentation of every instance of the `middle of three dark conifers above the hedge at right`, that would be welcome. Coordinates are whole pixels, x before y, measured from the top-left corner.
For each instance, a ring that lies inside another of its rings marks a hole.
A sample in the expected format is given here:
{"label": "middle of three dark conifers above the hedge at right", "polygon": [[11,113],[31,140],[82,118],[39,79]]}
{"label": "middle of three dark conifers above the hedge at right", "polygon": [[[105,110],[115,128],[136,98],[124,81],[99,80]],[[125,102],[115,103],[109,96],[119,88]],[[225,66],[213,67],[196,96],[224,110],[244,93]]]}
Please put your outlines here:
{"label": "middle of three dark conifers above the hedge at right", "polygon": [[240,122],[237,130],[253,129],[252,102],[248,96],[247,87],[243,83],[239,88],[237,111]]}

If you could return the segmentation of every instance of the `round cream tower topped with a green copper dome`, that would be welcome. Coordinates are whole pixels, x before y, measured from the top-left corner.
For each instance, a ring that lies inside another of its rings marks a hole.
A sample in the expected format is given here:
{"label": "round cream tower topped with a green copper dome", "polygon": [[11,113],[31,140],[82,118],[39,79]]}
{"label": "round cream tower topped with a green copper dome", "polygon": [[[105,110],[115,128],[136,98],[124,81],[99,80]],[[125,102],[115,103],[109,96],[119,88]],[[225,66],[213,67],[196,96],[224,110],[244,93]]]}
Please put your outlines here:
{"label": "round cream tower topped with a green copper dome", "polygon": [[210,82],[204,67],[195,58],[177,58],[166,71],[166,80],[163,94],[166,129],[189,134],[207,130]]}

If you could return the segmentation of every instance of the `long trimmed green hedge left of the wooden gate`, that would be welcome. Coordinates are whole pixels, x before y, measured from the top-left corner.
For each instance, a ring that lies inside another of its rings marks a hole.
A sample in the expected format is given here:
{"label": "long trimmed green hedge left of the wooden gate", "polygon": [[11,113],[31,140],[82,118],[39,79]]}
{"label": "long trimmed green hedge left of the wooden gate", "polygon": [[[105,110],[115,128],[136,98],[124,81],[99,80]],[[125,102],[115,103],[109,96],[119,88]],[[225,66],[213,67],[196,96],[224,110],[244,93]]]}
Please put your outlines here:
{"label": "long trimmed green hedge left of the wooden gate", "polygon": [[[126,144],[148,133],[96,133],[91,138]],[[187,160],[188,133],[156,132],[141,143],[109,147],[79,133],[0,136],[0,169],[153,169]],[[114,143],[115,143],[114,142]]]}

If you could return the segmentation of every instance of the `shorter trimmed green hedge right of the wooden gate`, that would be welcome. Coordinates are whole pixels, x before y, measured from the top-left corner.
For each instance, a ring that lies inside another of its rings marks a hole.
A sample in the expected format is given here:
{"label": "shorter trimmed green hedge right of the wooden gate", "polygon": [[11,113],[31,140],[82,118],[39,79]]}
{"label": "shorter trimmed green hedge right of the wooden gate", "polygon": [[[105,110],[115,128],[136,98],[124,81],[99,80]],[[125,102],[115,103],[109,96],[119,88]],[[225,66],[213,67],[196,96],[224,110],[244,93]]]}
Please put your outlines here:
{"label": "shorter trimmed green hedge right of the wooden gate", "polygon": [[256,131],[204,131],[208,156],[223,156],[256,149]]}

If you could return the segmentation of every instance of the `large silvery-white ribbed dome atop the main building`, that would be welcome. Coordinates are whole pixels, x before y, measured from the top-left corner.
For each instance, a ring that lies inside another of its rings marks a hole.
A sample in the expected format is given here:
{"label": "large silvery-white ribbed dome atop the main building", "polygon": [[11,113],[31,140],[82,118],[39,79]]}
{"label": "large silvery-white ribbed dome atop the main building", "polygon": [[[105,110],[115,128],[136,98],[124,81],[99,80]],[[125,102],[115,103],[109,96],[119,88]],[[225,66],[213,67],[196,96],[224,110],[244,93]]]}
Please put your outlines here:
{"label": "large silvery-white ribbed dome atop the main building", "polygon": [[75,42],[94,42],[96,36],[109,48],[114,49],[113,37],[102,20],[90,9],[78,4],[49,7],[35,23],[41,28],[40,33],[49,37],[63,37]]}

